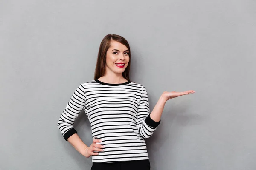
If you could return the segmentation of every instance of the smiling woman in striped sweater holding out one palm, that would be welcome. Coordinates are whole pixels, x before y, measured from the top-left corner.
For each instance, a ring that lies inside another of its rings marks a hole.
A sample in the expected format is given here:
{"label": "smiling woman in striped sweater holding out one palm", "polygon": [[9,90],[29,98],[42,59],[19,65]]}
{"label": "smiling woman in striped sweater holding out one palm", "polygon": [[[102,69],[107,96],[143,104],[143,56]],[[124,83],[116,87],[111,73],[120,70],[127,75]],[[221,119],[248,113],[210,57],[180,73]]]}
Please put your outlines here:
{"label": "smiling woman in striped sweater holding out one palm", "polygon": [[[83,156],[92,156],[91,170],[150,170],[145,138],[160,124],[167,100],[195,91],[167,92],[149,113],[146,88],[129,79],[130,46],[123,37],[108,34],[102,40],[94,80],[74,91],[58,120],[64,139]],[[84,109],[93,143],[84,144],[73,127]]]}

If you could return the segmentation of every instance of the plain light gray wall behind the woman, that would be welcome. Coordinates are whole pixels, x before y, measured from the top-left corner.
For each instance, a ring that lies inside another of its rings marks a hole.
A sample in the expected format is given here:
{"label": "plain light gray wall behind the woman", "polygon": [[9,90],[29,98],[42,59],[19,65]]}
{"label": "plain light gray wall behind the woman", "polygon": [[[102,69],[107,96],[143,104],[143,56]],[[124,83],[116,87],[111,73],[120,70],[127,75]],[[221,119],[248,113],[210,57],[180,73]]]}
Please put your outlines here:
{"label": "plain light gray wall behind the woman", "polygon": [[[131,80],[151,111],[152,170],[256,169],[256,1],[0,0],[0,170],[90,170],[57,127],[73,91],[93,80],[99,44],[131,45]],[[75,123],[92,143],[84,112]]]}

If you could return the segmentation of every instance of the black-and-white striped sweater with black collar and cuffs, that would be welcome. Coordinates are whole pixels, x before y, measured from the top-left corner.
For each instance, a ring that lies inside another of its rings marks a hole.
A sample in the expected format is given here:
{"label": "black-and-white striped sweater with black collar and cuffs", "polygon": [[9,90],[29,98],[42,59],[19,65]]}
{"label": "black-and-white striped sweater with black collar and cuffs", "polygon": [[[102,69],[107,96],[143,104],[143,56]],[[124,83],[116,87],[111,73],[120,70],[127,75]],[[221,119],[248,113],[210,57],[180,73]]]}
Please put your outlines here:
{"label": "black-and-white striped sweater with black collar and cuffs", "polygon": [[77,133],[73,123],[82,109],[93,139],[101,139],[97,144],[105,146],[99,155],[92,156],[92,162],[149,159],[144,139],[152,136],[161,120],[150,118],[143,85],[131,81],[109,84],[98,79],[81,83],[58,120],[58,129],[66,141]]}

